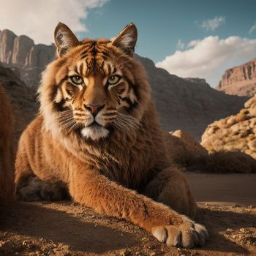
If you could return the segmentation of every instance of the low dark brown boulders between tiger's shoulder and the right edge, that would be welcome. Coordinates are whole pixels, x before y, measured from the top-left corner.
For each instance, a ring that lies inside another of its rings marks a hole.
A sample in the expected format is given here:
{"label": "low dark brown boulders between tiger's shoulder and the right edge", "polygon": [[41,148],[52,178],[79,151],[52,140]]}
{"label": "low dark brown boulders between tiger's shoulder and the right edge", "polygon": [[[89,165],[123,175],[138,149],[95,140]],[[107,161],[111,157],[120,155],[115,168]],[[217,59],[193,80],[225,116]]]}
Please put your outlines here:
{"label": "low dark brown boulders between tiger's shoulder and the right edge", "polygon": [[184,171],[200,173],[256,173],[256,160],[238,151],[207,151],[189,133],[165,134],[167,155]]}

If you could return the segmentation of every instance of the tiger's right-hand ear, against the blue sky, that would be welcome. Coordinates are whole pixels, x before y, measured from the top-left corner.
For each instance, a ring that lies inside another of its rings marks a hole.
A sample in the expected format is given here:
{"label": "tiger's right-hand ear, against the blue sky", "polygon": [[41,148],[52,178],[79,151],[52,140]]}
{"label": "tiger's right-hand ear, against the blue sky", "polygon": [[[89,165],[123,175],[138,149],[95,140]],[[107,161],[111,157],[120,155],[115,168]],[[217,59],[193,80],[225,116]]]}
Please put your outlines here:
{"label": "tiger's right-hand ear, against the blue sky", "polygon": [[112,44],[118,48],[121,48],[126,53],[132,56],[135,51],[137,37],[137,28],[135,24],[130,23],[118,34],[115,39],[113,39]]}

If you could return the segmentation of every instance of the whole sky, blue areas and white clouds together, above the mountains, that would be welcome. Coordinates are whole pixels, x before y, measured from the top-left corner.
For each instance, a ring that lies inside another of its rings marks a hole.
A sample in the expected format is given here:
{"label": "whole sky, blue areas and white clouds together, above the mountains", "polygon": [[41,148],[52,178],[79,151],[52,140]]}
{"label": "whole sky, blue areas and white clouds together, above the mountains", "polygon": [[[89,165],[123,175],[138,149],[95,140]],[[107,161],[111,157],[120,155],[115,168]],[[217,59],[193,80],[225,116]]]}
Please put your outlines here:
{"label": "whole sky, blue areas and white clouds together, above the mountains", "polygon": [[0,29],[36,43],[53,42],[58,21],[80,39],[115,37],[133,22],[136,53],[211,86],[225,69],[256,57],[255,0],[0,0],[0,6]]}

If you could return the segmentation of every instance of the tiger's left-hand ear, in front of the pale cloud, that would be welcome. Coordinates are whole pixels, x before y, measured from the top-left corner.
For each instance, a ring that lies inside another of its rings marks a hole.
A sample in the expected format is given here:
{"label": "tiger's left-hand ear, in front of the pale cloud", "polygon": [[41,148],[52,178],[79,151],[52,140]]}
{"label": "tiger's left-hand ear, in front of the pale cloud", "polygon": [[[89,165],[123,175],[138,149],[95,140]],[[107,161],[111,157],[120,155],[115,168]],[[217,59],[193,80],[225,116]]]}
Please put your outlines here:
{"label": "tiger's left-hand ear, in front of the pale cloud", "polygon": [[59,57],[65,55],[69,48],[80,45],[75,34],[73,34],[67,25],[61,22],[56,26],[54,39]]}

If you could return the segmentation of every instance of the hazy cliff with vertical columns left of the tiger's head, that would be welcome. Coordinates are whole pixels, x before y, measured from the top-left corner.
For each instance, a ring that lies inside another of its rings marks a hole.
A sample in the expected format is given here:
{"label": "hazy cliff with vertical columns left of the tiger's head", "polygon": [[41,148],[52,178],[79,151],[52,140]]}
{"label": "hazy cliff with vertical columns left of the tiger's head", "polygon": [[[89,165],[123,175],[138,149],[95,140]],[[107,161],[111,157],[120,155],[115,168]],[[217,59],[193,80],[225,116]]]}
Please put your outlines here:
{"label": "hazy cliff with vertical columns left of the tiger's head", "polygon": [[33,89],[37,87],[42,70],[54,58],[54,54],[54,45],[34,45],[29,37],[18,37],[7,29],[0,31],[1,63],[19,72],[20,78]]}

